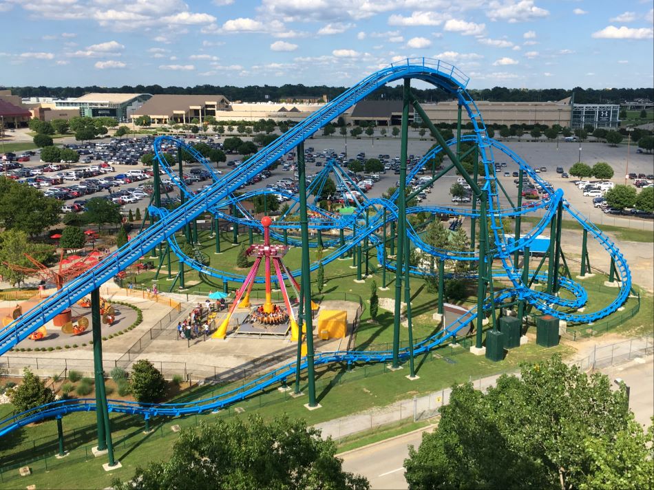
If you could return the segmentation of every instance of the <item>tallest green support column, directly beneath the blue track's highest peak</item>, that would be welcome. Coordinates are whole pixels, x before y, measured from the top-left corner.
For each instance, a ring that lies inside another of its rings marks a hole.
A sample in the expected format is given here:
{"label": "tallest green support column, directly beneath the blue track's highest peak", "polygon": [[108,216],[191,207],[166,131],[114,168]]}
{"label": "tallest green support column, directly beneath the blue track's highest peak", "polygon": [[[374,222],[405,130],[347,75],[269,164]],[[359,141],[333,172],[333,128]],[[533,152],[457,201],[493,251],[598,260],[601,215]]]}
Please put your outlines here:
{"label": "tallest green support column, directly beneath the blue track's highest peak", "polygon": [[406,239],[406,157],[409,137],[410,78],[404,78],[402,106],[402,131],[400,145],[400,185],[397,193],[397,258],[395,259],[395,308],[393,318],[393,368],[399,368],[400,315],[402,308],[402,265],[404,264],[404,240]]}

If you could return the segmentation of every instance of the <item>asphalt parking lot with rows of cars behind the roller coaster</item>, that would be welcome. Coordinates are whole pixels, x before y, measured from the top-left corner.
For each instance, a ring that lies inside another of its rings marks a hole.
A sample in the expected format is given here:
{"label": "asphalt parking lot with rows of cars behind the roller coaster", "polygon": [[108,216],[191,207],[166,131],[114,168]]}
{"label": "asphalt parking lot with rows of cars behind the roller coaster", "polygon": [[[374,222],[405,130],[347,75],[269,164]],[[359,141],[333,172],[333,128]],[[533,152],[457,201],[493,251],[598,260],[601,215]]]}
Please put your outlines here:
{"label": "asphalt parking lot with rows of cars behind the roller coaster", "polygon": [[[412,136],[412,134],[410,134]],[[123,140],[104,140],[103,142],[92,142],[89,145],[78,145],[77,151],[81,153],[81,160],[74,164],[70,164],[70,168],[61,168],[58,170],[46,171],[43,168],[43,162],[39,161],[39,154],[30,158],[30,161],[21,162],[24,169],[22,171],[8,171],[7,175],[16,175],[21,181],[28,182],[34,187],[39,187],[44,193],[54,195],[61,198],[65,207],[65,211],[82,211],[84,201],[92,197],[105,197],[114,200],[121,205],[122,211],[127,213],[129,209],[144,209],[149,202],[149,195],[151,194],[151,187],[147,186],[147,182],[151,182],[152,173],[149,167],[145,167],[140,162],[140,157],[145,153],[151,152],[151,143],[153,137],[142,137],[133,140],[125,138]],[[219,145],[221,138],[211,140],[204,140],[209,144]],[[189,139],[187,142],[195,142],[196,138]],[[413,154],[414,158],[419,158],[433,145],[432,140],[419,140],[418,138],[410,138],[408,153]],[[636,153],[635,148],[629,149],[629,158],[627,156],[627,148],[624,146],[610,147],[604,143],[590,143],[584,142],[580,145],[577,142],[507,142],[507,146],[523,157],[531,167],[540,169],[544,167],[540,176],[548,180],[553,187],[562,188],[565,191],[566,198],[576,206],[582,213],[589,215],[596,222],[604,221],[604,216],[600,209],[593,207],[593,197],[584,196],[577,187],[573,184],[571,178],[562,178],[561,174],[556,173],[556,167],[563,167],[567,171],[572,164],[581,158],[581,161],[587,164],[594,164],[595,162],[607,162],[613,167],[615,175],[611,179],[614,183],[625,183],[624,175],[629,173],[644,173],[646,175],[654,173],[654,156],[651,154]],[[342,137],[316,137],[306,140],[305,147],[313,147],[311,155],[307,162],[307,175],[315,175],[318,173],[324,163],[326,162],[326,155],[333,154],[343,156],[343,160],[355,158],[357,153],[365,153],[365,159],[380,158],[383,161],[393,163],[395,158],[399,158],[399,138],[379,138],[372,140],[370,138],[342,138]],[[581,152],[579,148],[581,147]],[[332,153],[333,152],[333,153]],[[347,152],[347,153],[346,153]],[[388,156],[388,158],[383,158]],[[241,156],[228,155],[228,164],[235,160],[241,160]],[[297,158],[297,157],[296,157]],[[514,200],[517,197],[516,185],[514,184],[514,171],[517,170],[516,166],[509,158],[504,156],[498,150],[494,151],[494,158],[498,164],[505,163],[505,167],[498,167],[498,177],[500,182],[503,183],[507,193],[511,195]],[[627,160],[629,159],[629,162]],[[296,159],[286,160],[284,162],[294,163]],[[314,161],[311,161],[314,160]],[[218,171],[228,173],[234,167],[228,164],[220,163]],[[37,168],[41,167],[41,168]],[[387,165],[388,167],[388,165]],[[397,166],[396,166],[397,167]],[[255,182],[247,189],[260,189],[263,187],[275,187],[277,182],[282,178],[294,179],[293,165],[281,165],[269,173],[260,175],[260,182]],[[429,173],[429,172],[427,172]],[[197,191],[202,187],[209,184],[209,175],[202,171],[198,164],[184,163],[184,180],[193,191]],[[363,174],[353,175],[355,180],[359,177],[363,178]],[[266,176],[267,175],[267,176]],[[57,181],[58,176],[61,180]],[[54,177],[54,180],[52,178]],[[162,176],[165,181],[167,176]],[[450,195],[450,188],[456,182],[457,175],[454,171],[450,171],[447,175],[443,176],[437,181],[432,189],[428,189],[423,196],[421,204],[423,205],[438,205],[438,206],[470,206],[465,202],[452,202],[452,195]],[[50,182],[48,182],[50,180]],[[382,193],[391,187],[395,187],[399,175],[394,173],[393,169],[387,169],[386,173],[381,173],[378,180],[372,180],[370,189],[367,194],[372,197],[379,197]],[[626,181],[631,184],[631,180]],[[291,191],[295,190],[295,185],[290,184],[286,187]],[[168,194],[163,195],[164,202],[167,199],[174,200],[178,195],[178,191],[172,187],[167,187]],[[501,194],[500,194],[501,195]],[[503,205],[508,205],[506,198],[502,196],[500,202]],[[638,217],[621,217],[615,216],[615,220],[625,222],[626,226],[629,223],[636,222],[637,226],[649,226],[642,224],[646,220]]]}

